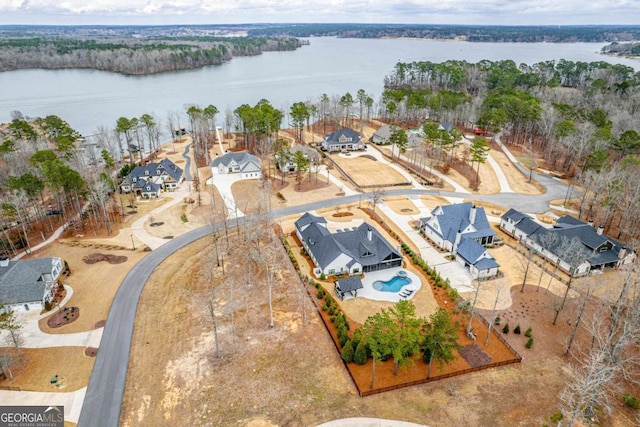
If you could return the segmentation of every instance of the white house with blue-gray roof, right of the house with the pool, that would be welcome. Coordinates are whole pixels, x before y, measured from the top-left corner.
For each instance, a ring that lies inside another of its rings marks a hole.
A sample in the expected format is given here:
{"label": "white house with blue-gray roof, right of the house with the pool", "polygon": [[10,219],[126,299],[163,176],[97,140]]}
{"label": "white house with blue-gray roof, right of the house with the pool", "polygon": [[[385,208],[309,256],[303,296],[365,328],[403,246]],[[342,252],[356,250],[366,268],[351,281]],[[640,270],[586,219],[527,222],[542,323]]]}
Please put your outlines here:
{"label": "white house with blue-gray roof, right of the house with the pool", "polygon": [[472,203],[436,206],[431,216],[421,218],[420,231],[441,249],[456,255],[473,277],[492,277],[500,265],[486,246],[492,245],[495,233],[484,208]]}

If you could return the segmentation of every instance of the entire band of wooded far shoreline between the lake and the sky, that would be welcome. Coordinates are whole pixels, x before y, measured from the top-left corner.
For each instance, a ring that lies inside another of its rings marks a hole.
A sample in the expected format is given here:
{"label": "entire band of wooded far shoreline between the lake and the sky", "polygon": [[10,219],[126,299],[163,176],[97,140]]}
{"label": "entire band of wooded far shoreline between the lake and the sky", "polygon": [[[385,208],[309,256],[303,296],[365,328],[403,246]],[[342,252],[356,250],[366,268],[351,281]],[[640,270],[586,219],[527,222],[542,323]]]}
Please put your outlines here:
{"label": "entire band of wooded far shoreline between the lake and the sky", "polygon": [[[0,71],[86,68],[145,75],[217,65],[236,56],[292,51],[309,37],[422,38],[489,43],[614,42],[603,53],[634,56],[640,26],[236,24],[0,26]],[[618,49],[629,48],[631,52]]]}

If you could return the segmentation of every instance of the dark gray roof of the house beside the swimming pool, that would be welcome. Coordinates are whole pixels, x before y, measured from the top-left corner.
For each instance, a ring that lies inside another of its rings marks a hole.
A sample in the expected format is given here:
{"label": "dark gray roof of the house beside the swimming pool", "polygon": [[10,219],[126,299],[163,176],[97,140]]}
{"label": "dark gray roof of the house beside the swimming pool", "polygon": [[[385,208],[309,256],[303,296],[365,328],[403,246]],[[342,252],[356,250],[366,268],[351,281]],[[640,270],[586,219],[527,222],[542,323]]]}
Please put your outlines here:
{"label": "dark gray roof of the house beside the swimming pool", "polygon": [[[378,230],[366,222],[351,230],[331,233],[320,225],[326,222],[324,218],[310,222],[313,218],[319,217],[305,214],[296,221],[295,226],[322,269],[341,254],[346,254],[363,267],[402,258],[402,255],[382,237]],[[307,225],[306,228],[304,228],[305,225]],[[369,240],[369,233],[371,233],[371,240]]]}

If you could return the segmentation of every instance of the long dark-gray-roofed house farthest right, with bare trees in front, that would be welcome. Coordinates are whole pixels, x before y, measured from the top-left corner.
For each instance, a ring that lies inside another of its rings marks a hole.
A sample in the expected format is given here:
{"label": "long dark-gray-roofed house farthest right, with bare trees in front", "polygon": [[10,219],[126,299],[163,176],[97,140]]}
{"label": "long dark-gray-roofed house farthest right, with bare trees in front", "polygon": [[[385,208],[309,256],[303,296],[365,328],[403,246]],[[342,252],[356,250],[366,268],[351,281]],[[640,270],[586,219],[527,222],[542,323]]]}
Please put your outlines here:
{"label": "long dark-gray-roofed house farthest right, with bare trees in front", "polygon": [[[547,227],[510,209],[500,219],[500,228],[565,272],[572,271],[574,276],[628,266],[636,258],[629,247],[605,236],[602,226],[596,229],[593,223],[586,224],[568,215],[558,218],[553,227]],[[576,251],[571,244],[574,241],[579,242],[581,246],[578,248],[584,253],[584,259],[578,265],[571,265],[572,255]]]}

